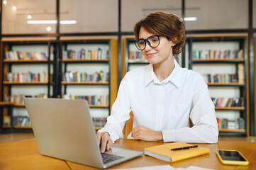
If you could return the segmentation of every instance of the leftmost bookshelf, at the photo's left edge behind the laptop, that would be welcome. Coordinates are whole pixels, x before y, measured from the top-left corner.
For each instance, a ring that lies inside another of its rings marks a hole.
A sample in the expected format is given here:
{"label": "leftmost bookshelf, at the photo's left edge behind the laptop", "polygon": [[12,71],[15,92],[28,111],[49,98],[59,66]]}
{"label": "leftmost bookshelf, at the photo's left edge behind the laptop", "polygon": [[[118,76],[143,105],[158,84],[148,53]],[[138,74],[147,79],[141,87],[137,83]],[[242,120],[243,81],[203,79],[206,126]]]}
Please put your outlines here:
{"label": "leftmost bookshelf, at the photo's left edge behind the laptop", "polygon": [[6,40],[1,49],[1,129],[31,130],[23,97],[53,96],[55,45],[50,40]]}

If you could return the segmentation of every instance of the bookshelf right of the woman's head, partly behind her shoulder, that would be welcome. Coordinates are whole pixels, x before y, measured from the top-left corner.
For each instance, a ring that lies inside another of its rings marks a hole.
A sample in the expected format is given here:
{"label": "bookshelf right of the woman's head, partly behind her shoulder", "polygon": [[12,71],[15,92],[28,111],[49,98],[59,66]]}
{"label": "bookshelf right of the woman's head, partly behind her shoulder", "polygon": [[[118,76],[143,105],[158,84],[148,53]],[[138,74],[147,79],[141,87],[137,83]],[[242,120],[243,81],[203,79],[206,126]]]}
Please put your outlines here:
{"label": "bookshelf right of the woman's head, partly behind her shoulder", "polygon": [[247,36],[200,35],[187,42],[189,69],[208,85],[220,135],[249,135]]}

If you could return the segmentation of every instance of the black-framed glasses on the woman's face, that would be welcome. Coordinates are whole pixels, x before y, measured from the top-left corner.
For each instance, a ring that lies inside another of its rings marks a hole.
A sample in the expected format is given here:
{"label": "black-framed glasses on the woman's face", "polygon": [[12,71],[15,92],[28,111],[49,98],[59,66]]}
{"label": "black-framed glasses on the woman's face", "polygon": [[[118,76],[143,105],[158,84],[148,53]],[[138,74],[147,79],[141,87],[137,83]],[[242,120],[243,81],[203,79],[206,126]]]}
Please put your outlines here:
{"label": "black-framed glasses on the woman's face", "polygon": [[157,47],[160,44],[160,36],[162,35],[151,35],[147,39],[140,38],[138,40],[135,40],[135,45],[138,48],[138,50],[144,50],[147,42],[150,47]]}

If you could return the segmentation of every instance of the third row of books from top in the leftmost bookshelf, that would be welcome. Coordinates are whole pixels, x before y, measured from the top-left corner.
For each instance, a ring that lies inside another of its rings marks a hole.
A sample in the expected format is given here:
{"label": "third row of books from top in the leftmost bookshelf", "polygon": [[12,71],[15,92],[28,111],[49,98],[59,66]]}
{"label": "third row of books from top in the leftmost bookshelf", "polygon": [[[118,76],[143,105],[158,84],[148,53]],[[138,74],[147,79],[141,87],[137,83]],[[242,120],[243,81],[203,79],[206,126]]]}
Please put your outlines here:
{"label": "third row of books from top in the leftmost bookshelf", "polygon": [[11,94],[6,94],[4,96],[4,101],[6,102],[12,102],[17,105],[23,105],[24,97],[29,97],[29,98],[48,98],[47,94],[37,94],[37,95],[24,95],[24,94],[18,94],[18,95],[11,95]]}

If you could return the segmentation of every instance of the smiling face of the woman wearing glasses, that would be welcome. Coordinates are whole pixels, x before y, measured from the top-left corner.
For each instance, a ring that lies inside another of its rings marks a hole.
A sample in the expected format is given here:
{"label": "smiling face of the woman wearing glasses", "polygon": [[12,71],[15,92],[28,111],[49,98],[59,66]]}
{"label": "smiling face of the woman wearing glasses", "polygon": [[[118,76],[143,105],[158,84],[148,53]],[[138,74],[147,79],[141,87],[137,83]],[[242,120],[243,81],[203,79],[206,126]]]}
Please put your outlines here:
{"label": "smiling face of the woman wearing glasses", "polygon": [[[154,34],[148,32],[145,28],[140,28],[139,38],[147,39]],[[160,36],[160,44],[157,47],[150,47],[148,42],[143,52],[145,58],[150,64],[161,64],[167,60],[172,59],[172,47],[175,44],[171,40],[167,40],[165,36]]]}

